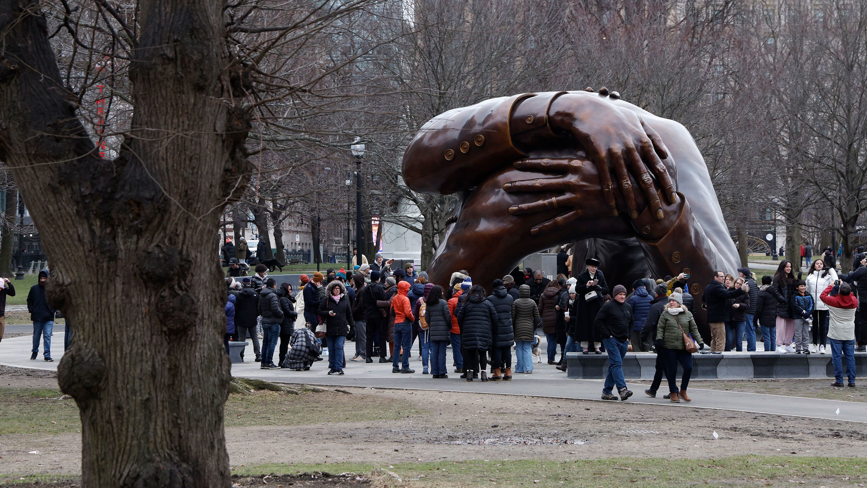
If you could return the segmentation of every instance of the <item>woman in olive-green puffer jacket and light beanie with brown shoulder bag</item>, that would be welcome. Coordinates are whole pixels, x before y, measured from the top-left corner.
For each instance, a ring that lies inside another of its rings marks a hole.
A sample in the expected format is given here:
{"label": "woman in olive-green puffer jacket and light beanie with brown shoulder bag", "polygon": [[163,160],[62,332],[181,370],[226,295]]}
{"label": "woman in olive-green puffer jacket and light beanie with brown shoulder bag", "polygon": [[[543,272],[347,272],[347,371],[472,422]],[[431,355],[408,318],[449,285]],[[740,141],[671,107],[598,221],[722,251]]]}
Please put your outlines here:
{"label": "woman in olive-green puffer jacket and light beanie with brown shoulder bag", "polygon": [[[676,288],[680,290],[680,288]],[[689,376],[693,373],[693,355],[687,352],[687,346],[683,342],[683,333],[692,336],[698,342],[699,348],[704,348],[704,340],[701,340],[699,327],[695,325],[693,314],[683,307],[683,293],[675,291],[668,297],[668,306],[662,311],[659,323],[656,326],[656,353],[663,354],[668,368],[668,391],[671,392],[671,401],[679,403],[692,401],[687,396]],[[677,387],[677,363],[683,368],[681,387]]]}

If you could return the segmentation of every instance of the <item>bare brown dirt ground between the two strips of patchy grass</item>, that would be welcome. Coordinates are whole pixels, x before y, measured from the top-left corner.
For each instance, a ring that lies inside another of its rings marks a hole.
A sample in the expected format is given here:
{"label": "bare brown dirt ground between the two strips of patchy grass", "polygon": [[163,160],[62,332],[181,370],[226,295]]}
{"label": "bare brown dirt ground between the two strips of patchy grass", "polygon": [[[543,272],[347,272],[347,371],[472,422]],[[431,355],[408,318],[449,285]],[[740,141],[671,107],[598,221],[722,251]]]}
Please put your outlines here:
{"label": "bare brown dirt ground between the two strips of patchy grass", "polygon": [[[3,375],[3,382],[10,379]],[[863,456],[867,433],[845,422],[582,400],[353,388],[323,402],[423,412],[396,420],[226,429],[233,466],[461,459],[715,458],[744,454]],[[293,397],[287,395],[290,406]],[[324,407],[323,407],[324,408]],[[692,425],[681,432],[681,425]],[[714,439],[713,432],[719,439]],[[0,472],[79,471],[78,433],[0,435]],[[29,453],[38,451],[39,454]]]}

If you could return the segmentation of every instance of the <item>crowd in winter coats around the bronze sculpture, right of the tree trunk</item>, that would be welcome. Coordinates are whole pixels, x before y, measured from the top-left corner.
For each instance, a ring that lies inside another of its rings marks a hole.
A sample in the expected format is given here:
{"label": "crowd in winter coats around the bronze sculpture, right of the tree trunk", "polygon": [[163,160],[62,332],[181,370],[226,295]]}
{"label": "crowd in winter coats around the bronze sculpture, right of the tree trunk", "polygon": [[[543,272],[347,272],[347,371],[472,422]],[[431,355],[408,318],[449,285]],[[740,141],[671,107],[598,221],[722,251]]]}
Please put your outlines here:
{"label": "crowd in winter coats around the bronze sculpture, right of the tree trunk", "polygon": [[[391,363],[393,373],[406,374],[415,373],[409,359],[417,341],[423,374],[447,379],[451,346],[453,372],[461,379],[499,381],[511,380],[513,373],[531,374],[534,346],[544,336],[548,364],[564,372],[566,353],[608,355],[603,399],[632,395],[623,378],[623,356],[634,351],[657,354],[647,395],[655,397],[664,376],[665,398],[688,402],[692,353],[742,351],[745,342],[746,351],[756,351],[760,341],[766,352],[774,353],[824,354],[830,347],[833,385],[843,385],[844,357],[848,384],[855,385],[857,296],[867,297],[867,259],[849,275],[838,275],[824,260],[812,260],[806,280],[801,274],[796,278],[792,262],[783,260],[775,274],[762,277],[761,286],[746,267],[738,269],[738,276],[718,271],[701,297],[710,326],[707,338],[694,319],[689,274],[636,280],[629,289],[610,287],[598,260],[586,260],[583,270],[570,277],[571,267],[560,266],[570,259],[557,263],[564,273],[553,279],[540,270],[515,268],[482,284],[460,270],[449,282],[436,284],[412,263],[392,269],[392,261],[377,254],[374,262],[355,265],[353,273],[329,269],[303,274],[297,293],[288,283],[277,287],[267,269],[257,265],[252,277],[226,278],[227,350],[229,340],[249,336],[262,368],[296,371],[310,370],[327,351],[328,374],[339,375],[344,374],[349,340],[355,341],[349,360],[378,359]],[[857,293],[852,282],[864,293]],[[704,351],[706,344],[709,351]],[[680,383],[675,378],[678,364]]]}

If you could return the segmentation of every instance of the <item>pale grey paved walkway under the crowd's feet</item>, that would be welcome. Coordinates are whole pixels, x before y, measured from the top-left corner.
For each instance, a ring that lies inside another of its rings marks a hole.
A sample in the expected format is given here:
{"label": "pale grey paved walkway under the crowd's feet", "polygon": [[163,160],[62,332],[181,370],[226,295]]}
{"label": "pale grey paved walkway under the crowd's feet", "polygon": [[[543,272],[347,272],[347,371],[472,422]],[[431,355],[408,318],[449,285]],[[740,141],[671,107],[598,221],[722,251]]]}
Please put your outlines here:
{"label": "pale grey paved walkway under the crowd's feet", "polygon": [[[55,340],[52,344],[54,362],[43,361],[41,352],[38,359],[29,360],[32,339],[25,336],[6,339],[0,342],[0,365],[56,370],[57,364],[63,355],[62,333],[55,333],[52,339]],[[355,351],[355,343],[348,342],[347,345],[349,346],[347,348],[347,358],[349,358]],[[416,348],[413,353],[418,353],[418,349]],[[245,355],[247,358],[253,357],[252,346],[247,346]],[[265,370],[261,369],[258,363],[244,363],[232,365],[231,373],[244,378],[331,387],[361,386],[604,401],[599,398],[602,394],[603,386],[601,380],[567,379],[566,373],[562,373],[555,369],[554,366],[548,366],[547,364],[534,365],[532,374],[516,373],[514,375],[515,379],[512,381],[488,381],[486,383],[480,381],[467,383],[463,379],[458,378],[460,376],[459,373],[451,373],[454,369],[451,366],[451,353],[447,354],[446,364],[449,365],[448,379],[433,379],[430,375],[421,374],[421,361],[416,356],[410,359],[410,367],[416,371],[414,374],[391,373],[390,364],[380,364],[378,362],[367,364],[363,361],[355,362],[348,360],[344,368],[346,371],[345,375],[329,376],[326,374],[328,372],[327,356],[323,361],[317,361],[313,365],[313,368],[307,372],[294,372],[286,369]],[[792,415],[815,419],[867,422],[867,403],[862,402],[707,390],[701,388],[701,381],[695,381],[691,385],[692,387],[689,388],[690,396],[693,399],[692,403],[672,404],[668,400],[662,399],[662,394],[667,389],[664,381],[659,391],[659,396],[655,399],[651,399],[644,394],[644,389],[647,387],[646,384],[647,382],[644,382],[643,385],[629,383],[629,389],[635,392],[635,395],[628,401],[631,403],[652,404],[673,408],[711,408],[772,415]]]}

